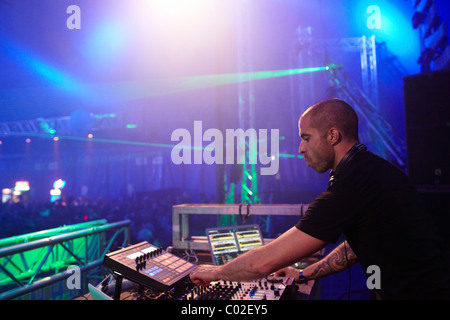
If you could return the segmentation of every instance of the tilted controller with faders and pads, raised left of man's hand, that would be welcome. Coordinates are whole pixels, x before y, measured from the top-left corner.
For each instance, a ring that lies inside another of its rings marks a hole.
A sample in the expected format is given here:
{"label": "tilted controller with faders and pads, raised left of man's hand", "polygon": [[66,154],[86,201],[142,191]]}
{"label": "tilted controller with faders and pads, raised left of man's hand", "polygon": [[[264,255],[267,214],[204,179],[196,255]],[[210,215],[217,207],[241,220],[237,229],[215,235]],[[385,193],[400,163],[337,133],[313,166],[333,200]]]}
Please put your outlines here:
{"label": "tilted controller with faders and pads, raised left of man's hand", "polygon": [[161,291],[184,282],[197,268],[146,241],[106,254],[103,265],[128,280]]}

